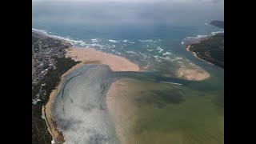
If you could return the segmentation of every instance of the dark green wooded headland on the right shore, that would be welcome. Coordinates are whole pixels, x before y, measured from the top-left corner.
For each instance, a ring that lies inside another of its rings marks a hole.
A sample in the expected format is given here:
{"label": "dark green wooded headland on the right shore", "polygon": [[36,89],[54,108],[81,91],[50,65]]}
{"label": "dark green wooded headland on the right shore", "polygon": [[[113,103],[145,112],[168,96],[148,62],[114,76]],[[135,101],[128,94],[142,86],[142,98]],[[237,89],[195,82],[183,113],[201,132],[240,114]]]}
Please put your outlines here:
{"label": "dark green wooded headland on the right shore", "polygon": [[191,44],[190,51],[199,58],[224,69],[224,34],[216,34],[199,43]]}

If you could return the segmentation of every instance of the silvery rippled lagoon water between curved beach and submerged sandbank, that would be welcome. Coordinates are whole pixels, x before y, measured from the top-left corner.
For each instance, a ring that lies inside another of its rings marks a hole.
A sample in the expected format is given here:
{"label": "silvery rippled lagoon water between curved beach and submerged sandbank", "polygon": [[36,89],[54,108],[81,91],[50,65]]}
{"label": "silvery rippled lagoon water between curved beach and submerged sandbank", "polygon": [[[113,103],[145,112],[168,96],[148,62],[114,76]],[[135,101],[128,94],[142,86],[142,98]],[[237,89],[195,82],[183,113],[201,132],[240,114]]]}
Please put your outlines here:
{"label": "silvery rippled lagoon water between curved beach and submerged sandbank", "polygon": [[52,104],[65,143],[118,143],[104,97],[110,74],[108,66],[87,65],[66,76]]}

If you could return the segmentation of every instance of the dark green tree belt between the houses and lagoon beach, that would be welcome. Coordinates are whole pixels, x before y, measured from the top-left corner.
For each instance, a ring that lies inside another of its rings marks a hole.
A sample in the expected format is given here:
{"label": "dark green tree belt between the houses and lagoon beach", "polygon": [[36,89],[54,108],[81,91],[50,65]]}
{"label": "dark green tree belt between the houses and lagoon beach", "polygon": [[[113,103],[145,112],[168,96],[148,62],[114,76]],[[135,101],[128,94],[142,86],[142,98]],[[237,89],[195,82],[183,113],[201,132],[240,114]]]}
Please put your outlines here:
{"label": "dark green tree belt between the houses and lagoon beach", "polygon": [[33,105],[32,104],[32,143],[33,144],[48,144],[51,141],[51,135],[47,131],[45,120],[42,119],[42,106],[46,105],[50,97],[50,93],[58,85],[62,74],[69,70],[72,66],[78,62],[74,62],[71,58],[55,58],[57,61],[57,68],[55,70],[49,70],[46,76],[42,79],[42,82],[35,86],[32,90],[32,98],[38,94],[42,83],[46,83],[46,86],[42,87],[42,90],[46,90],[46,98],[42,102]]}

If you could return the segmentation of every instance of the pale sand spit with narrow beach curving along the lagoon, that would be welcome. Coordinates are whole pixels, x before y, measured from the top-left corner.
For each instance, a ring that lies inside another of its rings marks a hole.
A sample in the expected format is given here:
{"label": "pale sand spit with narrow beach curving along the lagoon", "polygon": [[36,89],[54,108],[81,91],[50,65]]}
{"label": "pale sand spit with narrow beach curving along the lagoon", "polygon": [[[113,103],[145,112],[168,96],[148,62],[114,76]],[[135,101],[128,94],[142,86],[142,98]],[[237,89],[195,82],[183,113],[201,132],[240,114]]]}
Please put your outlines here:
{"label": "pale sand spit with narrow beach curving along the lagoon", "polygon": [[[92,58],[90,58],[90,56]],[[80,66],[86,64],[106,64],[110,66],[110,69],[113,71],[139,71],[138,65],[130,62],[126,58],[118,57],[114,54],[106,54],[101,51],[85,48],[69,48],[66,50],[66,58],[71,58],[76,62],[79,62],[77,65],[73,66],[70,70],[67,70],[65,74],[62,74],[60,82],[56,89],[52,90],[50,93],[50,98],[46,103],[46,106],[42,106],[42,118],[46,120],[46,126],[48,131],[53,137],[53,141],[56,142],[65,142],[65,138],[61,131],[58,130],[57,124],[54,122],[54,119],[51,116],[51,105],[54,102],[59,90],[62,88],[62,83],[67,74],[70,74],[73,70],[77,69]]]}

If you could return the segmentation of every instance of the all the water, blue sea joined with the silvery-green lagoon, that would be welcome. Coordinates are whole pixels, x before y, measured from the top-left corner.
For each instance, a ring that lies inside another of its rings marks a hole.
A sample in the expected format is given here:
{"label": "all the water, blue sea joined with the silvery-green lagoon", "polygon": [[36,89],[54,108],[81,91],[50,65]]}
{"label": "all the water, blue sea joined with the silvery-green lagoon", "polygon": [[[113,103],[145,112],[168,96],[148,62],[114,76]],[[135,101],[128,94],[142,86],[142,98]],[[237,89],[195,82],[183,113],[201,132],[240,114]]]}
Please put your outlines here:
{"label": "all the water, blue sea joined with the silvery-green lagoon", "polygon": [[[185,46],[222,29],[206,22],[173,26],[34,21],[32,26],[76,47],[127,58],[142,70],[113,72],[95,64],[68,74],[52,105],[66,143],[224,143],[224,70],[195,58]],[[199,67],[210,78],[177,78],[180,67]],[[114,82],[120,84],[111,92],[108,107],[106,95]]]}

